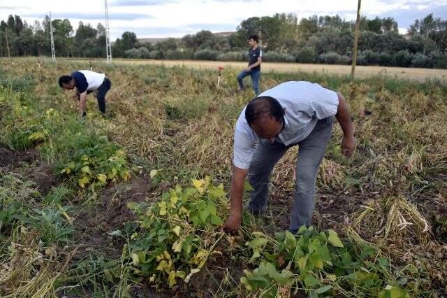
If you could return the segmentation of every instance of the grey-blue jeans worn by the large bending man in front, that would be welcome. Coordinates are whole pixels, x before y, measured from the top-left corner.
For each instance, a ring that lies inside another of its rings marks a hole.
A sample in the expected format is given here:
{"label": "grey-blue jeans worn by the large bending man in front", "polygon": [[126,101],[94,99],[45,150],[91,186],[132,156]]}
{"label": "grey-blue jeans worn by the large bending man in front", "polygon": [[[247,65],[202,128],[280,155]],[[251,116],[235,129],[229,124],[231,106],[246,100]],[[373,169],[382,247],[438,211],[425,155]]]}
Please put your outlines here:
{"label": "grey-blue jeans worn by the large bending man in front", "polygon": [[[330,141],[334,118],[319,120],[306,139],[298,143],[296,162],[296,190],[291,212],[290,231],[296,232],[302,225],[311,225],[314,212],[316,175],[324,150]],[[247,205],[249,212],[264,213],[268,203],[269,177],[274,165],[286,151],[296,144],[285,146],[274,141],[262,140],[249,167],[249,182],[254,187]]]}

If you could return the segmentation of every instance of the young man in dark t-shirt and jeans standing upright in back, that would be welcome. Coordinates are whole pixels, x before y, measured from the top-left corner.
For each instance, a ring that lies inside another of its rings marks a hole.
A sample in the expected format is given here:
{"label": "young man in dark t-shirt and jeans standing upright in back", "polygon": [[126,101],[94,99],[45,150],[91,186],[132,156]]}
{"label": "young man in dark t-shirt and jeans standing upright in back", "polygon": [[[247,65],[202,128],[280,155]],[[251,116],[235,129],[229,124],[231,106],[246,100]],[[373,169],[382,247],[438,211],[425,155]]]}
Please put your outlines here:
{"label": "young man in dark t-shirt and jeans standing upright in back", "polygon": [[263,51],[258,47],[258,36],[252,35],[249,38],[249,66],[244,68],[237,75],[237,83],[239,83],[239,88],[237,90],[244,90],[243,79],[246,76],[251,76],[251,83],[253,83],[253,89],[256,96],[261,93],[259,91],[259,78],[261,77],[261,60],[263,57]]}

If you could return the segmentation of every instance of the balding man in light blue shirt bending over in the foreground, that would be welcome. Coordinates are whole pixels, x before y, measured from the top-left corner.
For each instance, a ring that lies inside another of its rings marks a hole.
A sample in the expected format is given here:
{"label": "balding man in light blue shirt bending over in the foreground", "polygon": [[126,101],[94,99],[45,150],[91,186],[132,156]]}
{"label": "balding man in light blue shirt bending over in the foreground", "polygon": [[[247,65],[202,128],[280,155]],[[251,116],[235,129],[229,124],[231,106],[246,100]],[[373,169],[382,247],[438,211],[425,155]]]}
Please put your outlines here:
{"label": "balding man in light blue shirt bending over in the foreground", "polygon": [[[289,230],[311,225],[318,166],[330,141],[334,116],[342,127],[342,153],[356,148],[349,109],[342,94],[309,82],[286,82],[251,100],[235,127],[230,215],[224,229],[234,233],[242,219],[244,179],[254,187],[247,210],[265,212],[269,176],[288,148],[298,145],[296,190]],[[257,146],[255,146],[257,144]]]}

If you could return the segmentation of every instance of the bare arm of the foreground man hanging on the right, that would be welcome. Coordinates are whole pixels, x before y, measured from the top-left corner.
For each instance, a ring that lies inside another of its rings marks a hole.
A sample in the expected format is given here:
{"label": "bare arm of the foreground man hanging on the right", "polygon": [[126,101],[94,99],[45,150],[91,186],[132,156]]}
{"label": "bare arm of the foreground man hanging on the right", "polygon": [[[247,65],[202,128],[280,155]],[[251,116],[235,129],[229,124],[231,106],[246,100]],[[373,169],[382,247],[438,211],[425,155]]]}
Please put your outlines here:
{"label": "bare arm of the foreground man hanging on the right", "polygon": [[356,137],[354,136],[354,129],[351,121],[351,115],[349,114],[349,108],[346,104],[346,100],[342,94],[338,95],[338,108],[337,118],[340,126],[343,129],[343,140],[342,140],[342,153],[343,155],[350,157],[353,151],[356,149]]}

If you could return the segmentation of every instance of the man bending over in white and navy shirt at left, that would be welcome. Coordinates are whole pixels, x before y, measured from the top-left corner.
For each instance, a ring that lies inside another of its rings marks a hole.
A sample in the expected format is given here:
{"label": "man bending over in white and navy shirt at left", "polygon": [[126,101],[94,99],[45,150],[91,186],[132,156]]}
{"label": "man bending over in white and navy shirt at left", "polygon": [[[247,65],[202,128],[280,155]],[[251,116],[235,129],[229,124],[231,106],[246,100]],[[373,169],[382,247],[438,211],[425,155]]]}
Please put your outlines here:
{"label": "man bending over in white and navy shirt at left", "polygon": [[99,111],[105,114],[105,94],[110,90],[110,80],[105,77],[104,73],[96,73],[94,71],[75,71],[71,76],[61,76],[59,78],[59,86],[65,90],[73,90],[76,87],[76,93],[73,100],[78,100],[79,116],[86,115],[85,108],[87,106],[87,94],[98,91],[96,99],[98,99]]}

